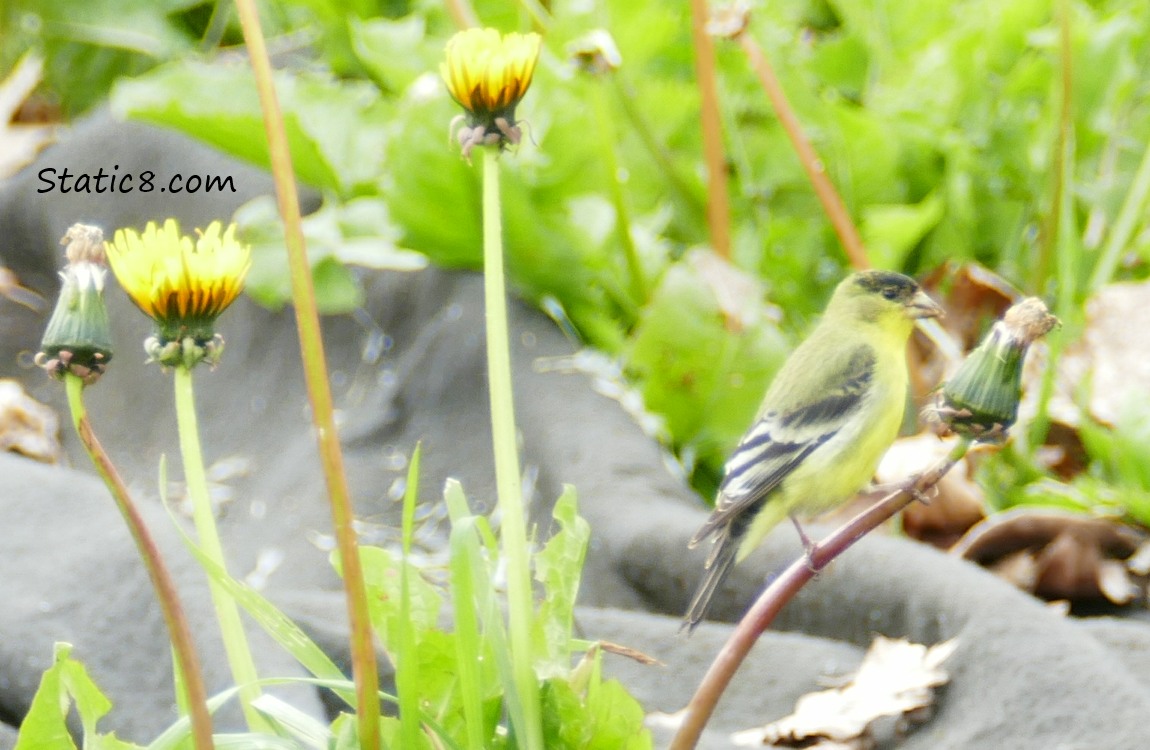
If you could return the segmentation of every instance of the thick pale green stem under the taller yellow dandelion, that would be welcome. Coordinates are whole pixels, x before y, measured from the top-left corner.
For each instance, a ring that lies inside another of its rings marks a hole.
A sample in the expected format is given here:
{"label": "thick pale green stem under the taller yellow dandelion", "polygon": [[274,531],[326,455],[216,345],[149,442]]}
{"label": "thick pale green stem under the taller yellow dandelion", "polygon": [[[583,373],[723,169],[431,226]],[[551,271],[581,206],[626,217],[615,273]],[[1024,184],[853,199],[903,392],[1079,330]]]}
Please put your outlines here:
{"label": "thick pale green stem under the taller yellow dandelion", "polygon": [[507,609],[514,680],[524,724],[516,727],[521,747],[542,750],[539,686],[531,652],[531,571],[527,519],[520,484],[515,408],[511,388],[511,345],[504,288],[503,222],[499,209],[499,153],[483,150],[483,301],[488,334],[488,389],[491,438],[496,458],[496,489],[503,516],[500,538],[507,560]]}

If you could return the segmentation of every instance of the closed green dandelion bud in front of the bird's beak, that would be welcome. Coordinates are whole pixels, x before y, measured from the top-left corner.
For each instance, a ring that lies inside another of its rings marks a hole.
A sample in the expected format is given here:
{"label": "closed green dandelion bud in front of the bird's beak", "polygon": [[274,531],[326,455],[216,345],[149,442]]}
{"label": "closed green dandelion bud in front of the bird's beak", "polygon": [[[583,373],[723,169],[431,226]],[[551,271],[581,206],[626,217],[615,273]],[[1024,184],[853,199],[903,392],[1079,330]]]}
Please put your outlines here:
{"label": "closed green dandelion bud in front of the bird's beak", "polygon": [[950,429],[983,442],[1005,439],[1022,398],[1022,361],[1038,338],[1058,324],[1043,301],[1014,305],[942,388],[936,413]]}

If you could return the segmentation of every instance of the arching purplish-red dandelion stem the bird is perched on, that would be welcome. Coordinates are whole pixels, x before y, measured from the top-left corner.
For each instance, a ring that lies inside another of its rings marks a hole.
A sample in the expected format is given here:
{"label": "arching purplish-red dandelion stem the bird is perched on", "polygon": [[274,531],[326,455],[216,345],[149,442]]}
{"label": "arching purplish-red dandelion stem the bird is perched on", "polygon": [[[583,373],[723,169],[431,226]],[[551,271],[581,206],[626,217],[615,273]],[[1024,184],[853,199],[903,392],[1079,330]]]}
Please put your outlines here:
{"label": "arching purplish-red dandelion stem the bird is perched on", "polygon": [[938,464],[911,477],[903,487],[844,523],[830,536],[815,544],[808,556],[800,557],[792,562],[759,595],[754,606],[735,626],[730,638],[711,663],[711,668],[704,675],[691,697],[691,702],[687,704],[687,714],[670,742],[669,750],[689,750],[696,745],[703,734],[703,728],[719,703],[719,698],[727,689],[727,684],[735,676],[735,672],[743,664],[751,646],[759,640],[759,636],[767,629],[783,605],[790,602],[799,589],[814,577],[815,573],[846,551],[862,535],[894,516],[895,513],[910,505],[915,497],[937,484],[946,472],[966,454],[968,447],[968,442],[960,442]]}

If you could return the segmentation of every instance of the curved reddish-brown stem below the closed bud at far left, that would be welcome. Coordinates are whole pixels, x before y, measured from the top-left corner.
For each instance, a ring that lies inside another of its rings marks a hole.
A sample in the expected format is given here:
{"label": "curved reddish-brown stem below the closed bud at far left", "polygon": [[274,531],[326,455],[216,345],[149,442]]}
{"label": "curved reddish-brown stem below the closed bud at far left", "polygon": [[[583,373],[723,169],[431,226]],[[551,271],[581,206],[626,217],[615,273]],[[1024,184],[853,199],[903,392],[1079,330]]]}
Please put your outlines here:
{"label": "curved reddish-brown stem below the closed bud at far left", "polygon": [[182,675],[184,703],[192,724],[192,747],[195,750],[212,750],[215,745],[212,742],[212,714],[208,711],[204,675],[200,672],[199,658],[195,656],[192,630],[187,626],[187,618],[184,617],[183,605],[181,605],[179,596],[176,594],[176,586],[163,564],[160,549],[144,525],[144,518],[136,510],[136,504],[132,503],[132,498],[128,493],[128,485],[124,484],[120,472],[116,470],[115,465],[108,458],[100,441],[95,438],[91,424],[89,424],[87,413],[84,408],[84,381],[69,373],[64,375],[64,389],[68,393],[68,406],[71,408],[72,427],[76,428],[76,435],[79,436],[89,458],[92,459],[100,477],[112,492],[112,499],[115,500],[116,508],[123,516],[124,523],[128,525],[128,530],[136,542],[136,548],[144,560],[144,567],[152,580],[152,588],[155,589],[155,598],[160,603],[163,621],[168,626],[176,668]]}

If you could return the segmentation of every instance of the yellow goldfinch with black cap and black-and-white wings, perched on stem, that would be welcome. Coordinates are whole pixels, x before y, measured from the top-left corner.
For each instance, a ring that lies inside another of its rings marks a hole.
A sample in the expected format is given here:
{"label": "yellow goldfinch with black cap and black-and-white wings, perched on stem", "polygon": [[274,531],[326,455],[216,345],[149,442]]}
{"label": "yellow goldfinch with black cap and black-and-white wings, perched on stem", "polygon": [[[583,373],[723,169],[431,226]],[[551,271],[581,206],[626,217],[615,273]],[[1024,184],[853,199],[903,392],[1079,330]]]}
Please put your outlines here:
{"label": "yellow goldfinch with black cap and black-and-white wings, perched on stem", "polygon": [[913,278],[882,270],[848,276],[814,331],[767,390],[727,461],[715,508],[690,542],[714,537],[684,617],[695,629],[731,566],[784,518],[845,503],[874,476],[906,405],[906,343],[919,317],[942,308]]}

